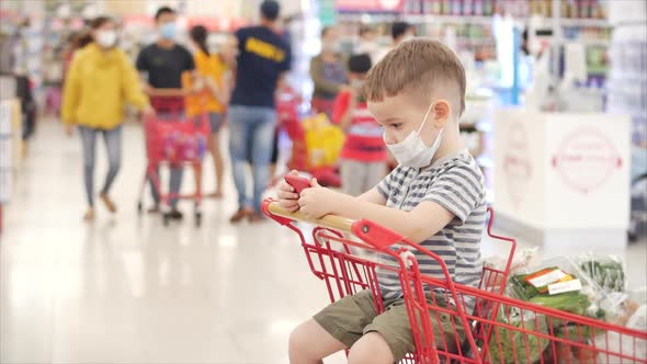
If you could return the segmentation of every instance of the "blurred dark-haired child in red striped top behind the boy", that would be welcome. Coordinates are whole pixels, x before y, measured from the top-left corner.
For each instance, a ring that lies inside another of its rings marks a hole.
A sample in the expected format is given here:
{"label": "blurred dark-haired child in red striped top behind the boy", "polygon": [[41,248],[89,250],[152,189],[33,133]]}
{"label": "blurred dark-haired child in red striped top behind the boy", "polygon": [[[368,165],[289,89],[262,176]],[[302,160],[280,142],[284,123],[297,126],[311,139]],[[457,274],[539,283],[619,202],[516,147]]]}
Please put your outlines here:
{"label": "blurred dark-haired child in red striped top behind the boy", "polygon": [[371,56],[354,55],[349,59],[351,87],[334,101],[332,122],[345,133],[341,150],[341,187],[359,196],[373,189],[386,175],[384,128],[377,124],[362,96],[362,87],[371,69]]}

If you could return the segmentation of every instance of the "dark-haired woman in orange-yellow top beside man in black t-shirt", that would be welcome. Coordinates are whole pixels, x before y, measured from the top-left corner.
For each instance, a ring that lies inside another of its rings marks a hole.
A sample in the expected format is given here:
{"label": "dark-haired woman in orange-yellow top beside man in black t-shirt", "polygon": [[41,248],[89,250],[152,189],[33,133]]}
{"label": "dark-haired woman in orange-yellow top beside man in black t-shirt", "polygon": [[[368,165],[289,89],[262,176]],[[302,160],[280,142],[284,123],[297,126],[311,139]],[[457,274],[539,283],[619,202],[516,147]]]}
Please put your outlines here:
{"label": "dark-haired woman in orange-yellow top beside man in black t-shirt", "polygon": [[[225,122],[225,111],[229,103],[229,82],[226,79],[227,65],[220,54],[212,54],[207,46],[208,31],[202,25],[191,29],[191,41],[195,52],[193,59],[200,75],[200,92],[186,96],[186,116],[203,117],[208,115],[212,135],[207,140],[207,149],[214,160],[216,190],[212,197],[223,197],[223,174],[225,162],[220,152],[220,129]],[[193,88],[189,81],[189,88]]]}

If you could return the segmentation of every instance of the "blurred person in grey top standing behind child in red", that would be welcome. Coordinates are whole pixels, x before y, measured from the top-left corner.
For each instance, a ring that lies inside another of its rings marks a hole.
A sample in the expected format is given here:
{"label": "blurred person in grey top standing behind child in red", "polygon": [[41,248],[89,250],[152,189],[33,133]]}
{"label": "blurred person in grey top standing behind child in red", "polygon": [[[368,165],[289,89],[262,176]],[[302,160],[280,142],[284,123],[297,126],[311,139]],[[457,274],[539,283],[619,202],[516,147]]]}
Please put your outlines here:
{"label": "blurred person in grey top standing behind child in red", "polygon": [[311,106],[317,113],[332,117],[334,98],[347,89],[348,75],[339,48],[339,36],[332,26],[321,30],[321,53],[310,60],[310,78],[315,83]]}

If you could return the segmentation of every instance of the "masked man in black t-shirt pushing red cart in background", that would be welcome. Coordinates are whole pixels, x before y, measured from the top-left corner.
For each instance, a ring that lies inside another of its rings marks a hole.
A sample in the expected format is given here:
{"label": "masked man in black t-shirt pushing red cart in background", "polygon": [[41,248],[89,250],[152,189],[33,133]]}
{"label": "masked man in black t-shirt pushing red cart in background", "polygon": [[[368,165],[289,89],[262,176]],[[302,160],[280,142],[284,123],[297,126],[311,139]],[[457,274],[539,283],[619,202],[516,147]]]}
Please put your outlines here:
{"label": "masked man in black t-shirt pushing red cart in background", "polygon": [[[191,72],[191,78],[195,79],[195,64],[193,56],[183,46],[175,43],[178,36],[178,25],[175,24],[175,11],[168,7],[160,8],[155,14],[155,22],[159,33],[156,43],[145,47],[137,57],[137,69],[145,73],[145,90],[150,96],[152,107],[156,109],[159,116],[164,117],[170,110],[167,105],[173,104],[174,107],[182,109],[184,96],[188,91],[182,86],[182,75]],[[177,112],[177,111],[173,111]],[[171,166],[171,177],[169,191],[173,195],[180,193],[182,185],[181,166]],[[159,212],[160,195],[150,181],[152,200],[155,206],[149,209],[150,213]],[[178,211],[178,198],[169,201],[171,212],[169,217],[172,219],[182,219],[182,214]]]}

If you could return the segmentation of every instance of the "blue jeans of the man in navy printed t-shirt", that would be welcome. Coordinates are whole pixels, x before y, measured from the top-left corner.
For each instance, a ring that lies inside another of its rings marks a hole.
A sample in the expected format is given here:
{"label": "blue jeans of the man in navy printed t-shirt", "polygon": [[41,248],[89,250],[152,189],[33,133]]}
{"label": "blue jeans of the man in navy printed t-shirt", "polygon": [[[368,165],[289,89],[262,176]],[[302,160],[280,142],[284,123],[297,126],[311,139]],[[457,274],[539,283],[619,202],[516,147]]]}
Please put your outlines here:
{"label": "blue jeans of the man in navy printed t-shirt", "polygon": [[[229,107],[229,155],[240,208],[261,209],[261,195],[270,182],[276,111],[271,107]],[[247,194],[247,167],[251,157],[253,196]]]}

